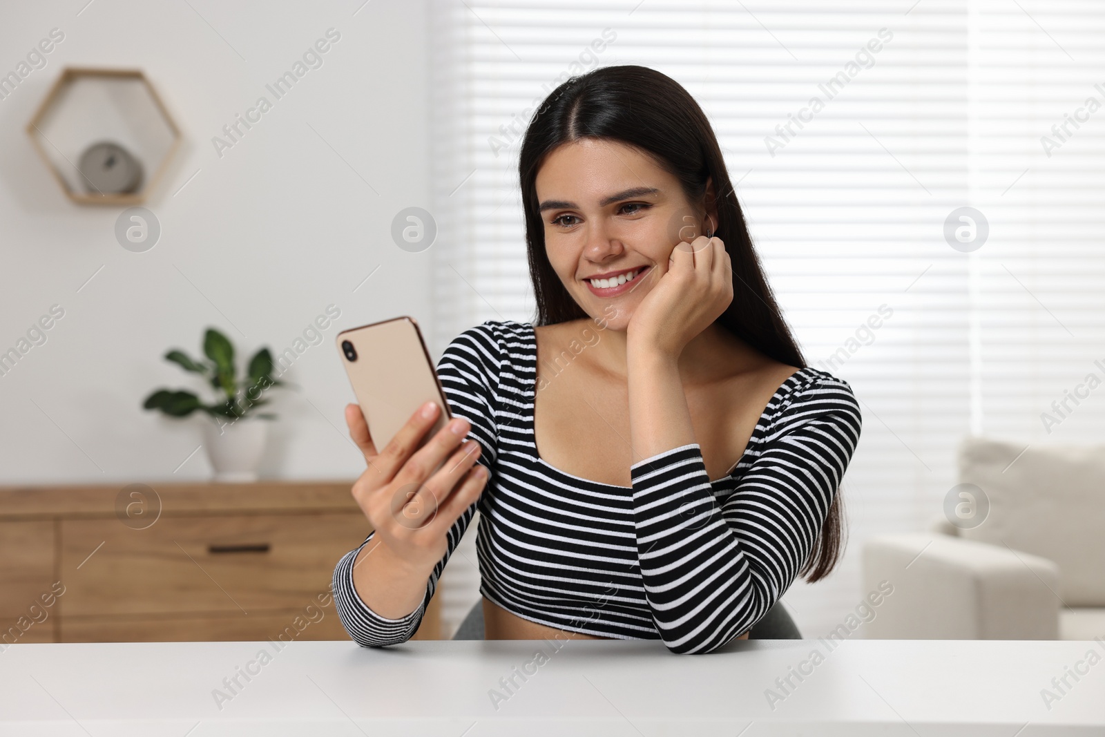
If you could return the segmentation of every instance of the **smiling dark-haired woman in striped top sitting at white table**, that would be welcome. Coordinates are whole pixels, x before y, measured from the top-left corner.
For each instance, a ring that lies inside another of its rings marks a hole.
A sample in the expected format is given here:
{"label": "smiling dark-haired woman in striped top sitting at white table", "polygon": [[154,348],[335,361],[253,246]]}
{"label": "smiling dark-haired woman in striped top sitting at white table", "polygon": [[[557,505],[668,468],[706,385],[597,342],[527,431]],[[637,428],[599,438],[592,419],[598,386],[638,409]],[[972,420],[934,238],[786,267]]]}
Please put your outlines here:
{"label": "smiling dark-haired woman in striped top sitting at white table", "polygon": [[378,450],[346,408],[373,533],[335,569],[341,622],[361,645],[408,640],[478,508],[487,639],[747,638],[841,555],[852,390],[806,366],[713,129],[672,78],[565,82],[519,175],[536,325],[449,345],[453,428],[418,452],[435,410]]}

